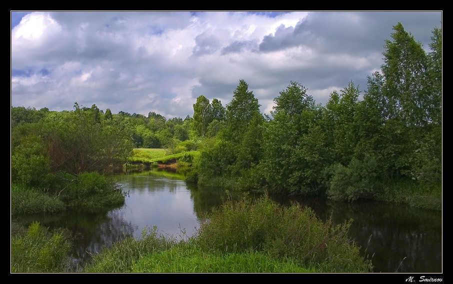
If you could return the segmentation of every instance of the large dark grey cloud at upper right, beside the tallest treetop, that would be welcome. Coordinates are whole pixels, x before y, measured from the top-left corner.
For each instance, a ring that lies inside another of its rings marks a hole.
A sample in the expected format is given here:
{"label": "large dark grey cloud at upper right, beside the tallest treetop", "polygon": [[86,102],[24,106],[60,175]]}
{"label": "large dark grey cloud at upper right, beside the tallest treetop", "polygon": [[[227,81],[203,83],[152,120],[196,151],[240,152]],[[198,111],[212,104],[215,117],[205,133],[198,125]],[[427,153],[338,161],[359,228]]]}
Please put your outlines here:
{"label": "large dark grey cloud at upper right, beside the tallest treetop", "polygon": [[310,12],[295,27],[280,25],[274,34],[264,36],[259,50],[270,52],[303,45],[317,52],[367,54],[382,50],[383,40],[389,38],[398,21],[410,27],[418,40],[428,42],[426,34],[440,25],[440,13]]}

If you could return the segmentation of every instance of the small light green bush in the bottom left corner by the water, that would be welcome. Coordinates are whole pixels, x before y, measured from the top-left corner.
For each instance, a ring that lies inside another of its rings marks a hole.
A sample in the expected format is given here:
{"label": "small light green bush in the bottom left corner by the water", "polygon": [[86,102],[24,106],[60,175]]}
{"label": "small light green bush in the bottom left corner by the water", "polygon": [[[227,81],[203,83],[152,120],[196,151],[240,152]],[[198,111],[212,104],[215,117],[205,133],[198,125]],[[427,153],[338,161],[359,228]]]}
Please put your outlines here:
{"label": "small light green bush in the bottom left corner by the water", "polygon": [[11,237],[11,272],[65,272],[69,248],[62,232],[50,234],[34,222]]}

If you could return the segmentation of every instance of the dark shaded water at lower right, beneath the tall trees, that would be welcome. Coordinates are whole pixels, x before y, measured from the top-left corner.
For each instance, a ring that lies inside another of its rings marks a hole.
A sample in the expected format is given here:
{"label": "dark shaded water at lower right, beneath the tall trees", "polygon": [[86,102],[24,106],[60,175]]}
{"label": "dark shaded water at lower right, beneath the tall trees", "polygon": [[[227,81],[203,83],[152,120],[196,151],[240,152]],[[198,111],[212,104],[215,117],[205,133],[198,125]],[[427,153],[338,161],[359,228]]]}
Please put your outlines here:
{"label": "dark shaded water at lower right, beneath the tall trees", "polygon": [[[288,204],[288,198],[275,198]],[[349,236],[371,258],[374,272],[441,272],[441,213],[402,204],[297,199],[323,220],[353,219]],[[370,238],[371,236],[371,238]],[[365,252],[366,250],[366,252]]]}

